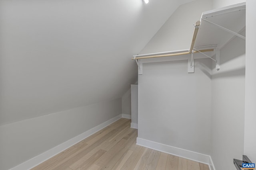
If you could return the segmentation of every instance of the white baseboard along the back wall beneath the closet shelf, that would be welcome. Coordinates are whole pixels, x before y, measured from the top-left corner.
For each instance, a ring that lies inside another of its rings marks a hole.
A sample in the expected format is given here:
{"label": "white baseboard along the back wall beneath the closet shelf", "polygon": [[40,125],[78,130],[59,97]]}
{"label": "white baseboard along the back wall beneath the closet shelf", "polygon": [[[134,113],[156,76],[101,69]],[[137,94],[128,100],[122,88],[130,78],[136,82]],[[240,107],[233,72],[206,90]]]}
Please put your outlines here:
{"label": "white baseboard along the back wall beneath the closet shelf", "polygon": [[193,160],[196,162],[200,162],[203,164],[208,164],[210,167],[210,170],[215,170],[211,156],[206,155],[206,154],[201,154],[201,153],[194,152],[191,150],[186,150],[186,149],[181,149],[181,148],[177,148],[177,147],[172,147],[169,145],[164,145],[162,143],[148,141],[146,139],[141,139],[138,137],[137,137],[136,144],[140,145],[142,147],[147,147],[150,149],[158,150],[160,152],[165,152],[168,154],[172,154],[175,156],[179,156],[179,157]]}

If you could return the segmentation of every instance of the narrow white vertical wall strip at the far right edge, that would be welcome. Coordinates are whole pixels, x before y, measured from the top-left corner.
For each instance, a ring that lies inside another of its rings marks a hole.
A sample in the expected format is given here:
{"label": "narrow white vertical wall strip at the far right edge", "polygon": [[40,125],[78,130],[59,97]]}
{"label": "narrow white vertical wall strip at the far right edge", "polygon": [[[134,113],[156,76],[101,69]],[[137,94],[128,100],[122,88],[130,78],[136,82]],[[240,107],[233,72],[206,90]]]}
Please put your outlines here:
{"label": "narrow white vertical wall strip at the far right edge", "polygon": [[246,74],[244,154],[256,163],[256,1],[246,1]]}

